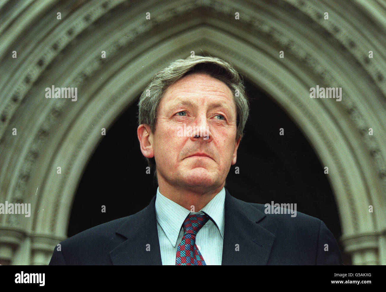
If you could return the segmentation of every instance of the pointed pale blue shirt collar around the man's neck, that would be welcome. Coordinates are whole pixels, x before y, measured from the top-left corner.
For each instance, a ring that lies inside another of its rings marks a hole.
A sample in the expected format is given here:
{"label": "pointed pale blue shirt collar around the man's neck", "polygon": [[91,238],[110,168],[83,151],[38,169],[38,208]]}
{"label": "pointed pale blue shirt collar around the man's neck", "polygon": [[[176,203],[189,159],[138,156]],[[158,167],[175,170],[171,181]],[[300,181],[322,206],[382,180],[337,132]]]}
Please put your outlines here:
{"label": "pointed pale blue shirt collar around the man's neck", "polygon": [[[220,192],[200,210],[200,212],[205,212],[210,216],[215,223],[215,226],[220,231],[222,238],[224,238],[224,202],[225,188],[222,188],[222,190],[220,190]],[[186,216],[190,213],[195,214],[200,212],[190,212],[190,210],[185,209],[176,202],[166,198],[159,192],[159,187],[157,188],[155,204],[157,222],[173,247],[176,247],[179,232]]]}

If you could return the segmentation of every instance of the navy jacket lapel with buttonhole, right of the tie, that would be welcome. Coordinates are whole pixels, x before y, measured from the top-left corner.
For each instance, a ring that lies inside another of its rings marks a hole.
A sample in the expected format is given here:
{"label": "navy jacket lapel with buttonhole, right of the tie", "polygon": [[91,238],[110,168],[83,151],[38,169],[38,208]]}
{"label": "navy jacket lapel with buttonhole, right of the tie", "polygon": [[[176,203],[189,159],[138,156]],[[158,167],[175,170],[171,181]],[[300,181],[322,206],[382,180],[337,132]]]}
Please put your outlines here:
{"label": "navy jacket lapel with buttonhole, right of the tie", "polygon": [[267,264],[275,236],[257,224],[264,217],[266,215],[263,212],[235,199],[225,189],[222,265]]}

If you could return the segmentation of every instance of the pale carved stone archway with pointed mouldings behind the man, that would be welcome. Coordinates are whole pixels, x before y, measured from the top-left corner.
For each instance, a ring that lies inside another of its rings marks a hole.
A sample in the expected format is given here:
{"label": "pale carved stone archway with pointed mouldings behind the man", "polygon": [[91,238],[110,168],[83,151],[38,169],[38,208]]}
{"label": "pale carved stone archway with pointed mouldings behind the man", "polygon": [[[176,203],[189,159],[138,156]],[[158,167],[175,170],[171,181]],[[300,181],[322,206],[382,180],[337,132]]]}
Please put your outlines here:
{"label": "pale carved stone archway with pointed mouldings behind the man", "polygon": [[[0,260],[48,263],[66,237],[76,186],[101,128],[108,129],[156,71],[205,51],[274,98],[328,166],[341,240],[353,264],[385,264],[386,10],[361,3],[5,3],[0,202],[30,203],[32,211],[28,218],[0,217]],[[51,85],[77,87],[78,100],[46,99]],[[342,87],[342,101],[311,99],[316,85]]]}

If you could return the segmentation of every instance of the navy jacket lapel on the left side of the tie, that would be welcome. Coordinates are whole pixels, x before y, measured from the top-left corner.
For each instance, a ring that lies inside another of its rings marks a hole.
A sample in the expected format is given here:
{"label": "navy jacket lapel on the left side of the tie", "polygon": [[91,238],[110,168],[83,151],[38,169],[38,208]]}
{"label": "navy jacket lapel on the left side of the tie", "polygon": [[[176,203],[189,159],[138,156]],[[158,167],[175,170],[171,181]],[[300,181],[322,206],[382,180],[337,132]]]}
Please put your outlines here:
{"label": "navy jacket lapel on the left side of the tie", "polygon": [[154,196],[145,209],[130,216],[116,231],[127,239],[110,251],[113,265],[162,265],[155,201]]}

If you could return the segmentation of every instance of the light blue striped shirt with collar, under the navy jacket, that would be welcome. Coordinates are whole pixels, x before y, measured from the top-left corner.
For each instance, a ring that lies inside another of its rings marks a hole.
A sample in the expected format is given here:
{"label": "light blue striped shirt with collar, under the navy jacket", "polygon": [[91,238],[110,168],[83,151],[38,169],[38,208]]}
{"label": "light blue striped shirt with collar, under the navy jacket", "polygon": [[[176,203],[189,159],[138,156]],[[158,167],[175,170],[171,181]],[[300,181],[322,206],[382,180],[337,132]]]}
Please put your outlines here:
{"label": "light blue striped shirt with collar, under the navy jacket", "polygon": [[189,214],[205,212],[211,218],[196,235],[196,244],[207,265],[221,265],[224,239],[225,188],[213,197],[199,212],[178,205],[166,198],[157,188],[156,218],[161,260],[163,265],[176,265],[176,253],[184,229],[182,224]]}

